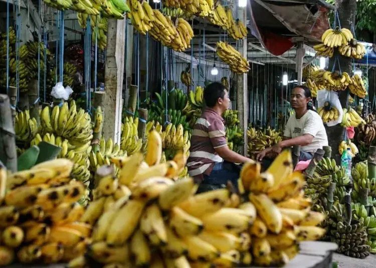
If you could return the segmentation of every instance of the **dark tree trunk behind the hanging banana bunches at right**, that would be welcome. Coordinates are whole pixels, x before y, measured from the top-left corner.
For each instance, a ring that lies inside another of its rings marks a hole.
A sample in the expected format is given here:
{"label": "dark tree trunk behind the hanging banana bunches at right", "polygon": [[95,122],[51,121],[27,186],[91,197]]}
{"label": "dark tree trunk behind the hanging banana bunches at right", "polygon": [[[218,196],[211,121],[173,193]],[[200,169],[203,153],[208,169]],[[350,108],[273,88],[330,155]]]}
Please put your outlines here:
{"label": "dark tree trunk behind the hanging banana bunches at right", "polygon": [[[351,29],[351,22],[355,25],[356,0],[335,0],[335,5],[338,10],[341,27]],[[336,60],[337,57],[338,61]],[[334,62],[336,62],[334,70],[340,69],[342,72],[345,71],[350,74],[350,76],[352,75],[352,58],[344,57],[339,54],[337,49],[334,49],[334,55],[329,59],[328,70],[332,70]],[[337,91],[342,107],[346,107],[347,90]],[[339,164],[341,162],[341,155],[339,155],[337,148],[343,139],[345,128],[340,124],[330,127],[326,126],[325,128],[329,146],[334,148],[332,158]]]}

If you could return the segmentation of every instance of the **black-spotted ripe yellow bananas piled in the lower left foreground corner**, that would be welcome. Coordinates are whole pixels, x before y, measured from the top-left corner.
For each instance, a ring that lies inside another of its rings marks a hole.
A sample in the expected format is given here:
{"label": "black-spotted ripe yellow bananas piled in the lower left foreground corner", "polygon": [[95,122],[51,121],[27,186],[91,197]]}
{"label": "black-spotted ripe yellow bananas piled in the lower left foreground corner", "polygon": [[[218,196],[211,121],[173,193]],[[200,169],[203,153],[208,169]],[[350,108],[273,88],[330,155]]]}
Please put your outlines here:
{"label": "black-spotted ripe yellow bananas piled in the lower left foreground corner", "polygon": [[85,187],[71,179],[72,167],[55,159],[8,175],[2,168],[0,265],[68,262],[86,248],[91,226],[77,222]]}

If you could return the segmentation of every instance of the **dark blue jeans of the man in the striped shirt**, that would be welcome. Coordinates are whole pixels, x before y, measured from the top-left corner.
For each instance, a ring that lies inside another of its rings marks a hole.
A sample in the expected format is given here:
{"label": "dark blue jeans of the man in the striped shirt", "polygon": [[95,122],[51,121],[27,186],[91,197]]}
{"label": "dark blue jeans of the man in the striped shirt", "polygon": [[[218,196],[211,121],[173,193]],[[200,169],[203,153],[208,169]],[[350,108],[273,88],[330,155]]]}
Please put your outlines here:
{"label": "dark blue jeans of the man in the striped shirt", "polygon": [[200,193],[209,190],[225,188],[226,183],[229,180],[237,188],[238,178],[239,171],[226,168],[223,162],[216,163],[209,176],[204,174],[204,180],[201,182],[197,192]]}

